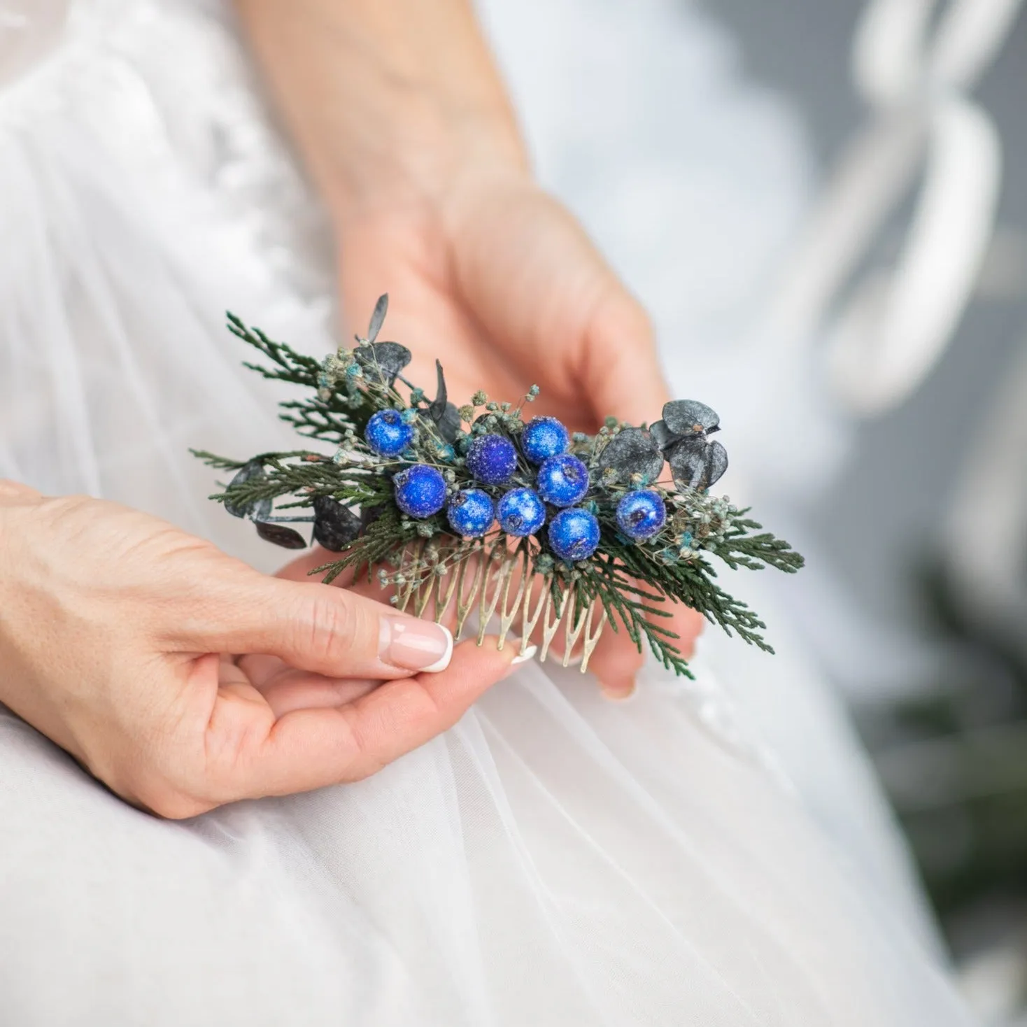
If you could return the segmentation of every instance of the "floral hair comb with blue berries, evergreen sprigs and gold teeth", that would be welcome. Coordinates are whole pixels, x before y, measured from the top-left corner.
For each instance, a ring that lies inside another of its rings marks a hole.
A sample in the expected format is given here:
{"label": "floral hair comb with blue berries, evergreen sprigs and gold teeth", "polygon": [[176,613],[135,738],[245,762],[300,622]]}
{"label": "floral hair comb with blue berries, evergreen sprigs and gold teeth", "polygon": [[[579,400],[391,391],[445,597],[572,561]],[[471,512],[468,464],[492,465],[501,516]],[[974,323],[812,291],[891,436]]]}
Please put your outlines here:
{"label": "floral hair comb with blue berries, evergreen sprigs and gold teeth", "polygon": [[[452,612],[457,637],[477,614],[479,644],[498,616],[500,646],[511,627],[522,651],[538,632],[544,659],[562,626],[564,665],[580,641],[584,671],[609,622],[687,675],[678,636],[660,623],[672,599],[773,651],[759,634],[765,624],[715,583],[710,558],[787,572],[803,560],[787,542],[756,534],[761,526],[727,496],[710,495],[727,468],[724,447],[710,439],[720,427],[713,410],[677,401],[648,427],[611,417],[598,434],[571,434],[554,417],[525,422],[537,385],[516,407],[476,392],[457,408],[438,360],[429,400],[403,376],[410,350],[377,341],[387,306],[381,297],[355,348],[320,363],[228,315],[229,329],[271,362],[246,367],[314,390],[282,403],[280,416],[335,453],[238,462],[194,451],[236,471],[212,499],[286,548],[307,545],[290,524],[312,523],[313,540],[339,554],[317,568],[326,581],[347,568],[377,568],[401,610],[435,620]],[[671,482],[660,481],[664,462]]]}

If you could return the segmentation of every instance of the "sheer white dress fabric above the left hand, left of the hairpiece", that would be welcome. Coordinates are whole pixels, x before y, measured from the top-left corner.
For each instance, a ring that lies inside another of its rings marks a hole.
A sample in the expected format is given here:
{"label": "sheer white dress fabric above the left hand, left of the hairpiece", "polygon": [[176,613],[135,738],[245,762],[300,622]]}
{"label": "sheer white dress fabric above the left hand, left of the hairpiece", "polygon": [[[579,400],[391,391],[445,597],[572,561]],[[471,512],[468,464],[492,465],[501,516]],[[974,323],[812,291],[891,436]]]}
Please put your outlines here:
{"label": "sheer white dress fabric above the left hand, left of the hairpiece", "polygon": [[293,445],[274,390],[239,373],[224,311],[325,352],[330,273],[232,38],[197,17],[74,6],[66,38],[0,93],[0,472],[271,566],[211,516],[187,449]]}

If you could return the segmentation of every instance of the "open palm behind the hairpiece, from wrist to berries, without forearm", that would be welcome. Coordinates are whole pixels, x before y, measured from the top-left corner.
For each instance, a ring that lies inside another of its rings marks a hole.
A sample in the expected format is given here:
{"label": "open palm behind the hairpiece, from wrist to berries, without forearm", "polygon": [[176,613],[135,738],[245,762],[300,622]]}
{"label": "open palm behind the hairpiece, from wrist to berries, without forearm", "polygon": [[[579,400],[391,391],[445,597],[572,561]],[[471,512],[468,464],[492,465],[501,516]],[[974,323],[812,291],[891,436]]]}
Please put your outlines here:
{"label": "open palm behind the hairpiece, from wrist to berries, without forearm", "polygon": [[580,225],[527,177],[483,173],[417,205],[372,210],[339,231],[343,309],[354,331],[389,293],[385,333],[411,347],[431,394],[434,359],[459,406],[484,388],[528,413],[595,431],[613,415],[660,416],[669,398],[645,312]]}

